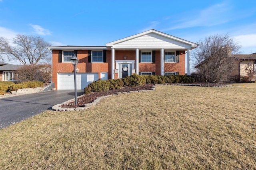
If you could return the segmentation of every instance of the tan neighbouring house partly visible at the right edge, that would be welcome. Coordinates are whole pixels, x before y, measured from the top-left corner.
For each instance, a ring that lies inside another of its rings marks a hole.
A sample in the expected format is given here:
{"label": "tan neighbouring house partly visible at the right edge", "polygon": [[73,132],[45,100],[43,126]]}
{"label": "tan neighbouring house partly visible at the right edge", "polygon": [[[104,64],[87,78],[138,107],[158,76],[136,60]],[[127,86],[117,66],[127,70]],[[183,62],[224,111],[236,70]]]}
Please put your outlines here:
{"label": "tan neighbouring house partly visible at the right edge", "polygon": [[[256,53],[232,55],[232,57],[236,59],[236,66],[231,74],[233,79],[241,80],[244,76],[248,76],[246,66],[250,66],[250,69],[252,69],[254,75],[256,75]],[[251,81],[255,81],[255,76]]]}

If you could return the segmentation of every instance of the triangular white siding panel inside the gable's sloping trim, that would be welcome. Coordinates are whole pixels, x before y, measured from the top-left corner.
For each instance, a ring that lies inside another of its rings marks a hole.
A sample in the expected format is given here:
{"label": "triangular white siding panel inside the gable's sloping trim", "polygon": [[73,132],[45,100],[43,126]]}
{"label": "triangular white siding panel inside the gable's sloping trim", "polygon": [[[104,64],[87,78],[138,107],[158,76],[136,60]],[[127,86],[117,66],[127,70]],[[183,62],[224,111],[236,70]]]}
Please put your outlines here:
{"label": "triangular white siding panel inside the gable's sloping trim", "polygon": [[140,49],[190,49],[191,45],[156,33],[148,33],[113,45],[113,48]]}

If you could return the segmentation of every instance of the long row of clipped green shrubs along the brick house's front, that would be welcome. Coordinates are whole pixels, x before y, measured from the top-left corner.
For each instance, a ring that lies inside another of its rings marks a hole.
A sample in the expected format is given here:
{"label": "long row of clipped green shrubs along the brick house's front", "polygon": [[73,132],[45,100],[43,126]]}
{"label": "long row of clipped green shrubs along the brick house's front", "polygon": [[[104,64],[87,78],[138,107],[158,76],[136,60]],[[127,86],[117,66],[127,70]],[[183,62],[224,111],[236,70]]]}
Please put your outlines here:
{"label": "long row of clipped green shrubs along the brick house's front", "polygon": [[193,83],[197,82],[194,76],[140,76],[133,74],[122,79],[97,80],[88,84],[84,88],[84,94],[91,92],[102,92],[106,90],[120,89],[122,87],[142,86],[144,84],[164,84],[164,83]]}

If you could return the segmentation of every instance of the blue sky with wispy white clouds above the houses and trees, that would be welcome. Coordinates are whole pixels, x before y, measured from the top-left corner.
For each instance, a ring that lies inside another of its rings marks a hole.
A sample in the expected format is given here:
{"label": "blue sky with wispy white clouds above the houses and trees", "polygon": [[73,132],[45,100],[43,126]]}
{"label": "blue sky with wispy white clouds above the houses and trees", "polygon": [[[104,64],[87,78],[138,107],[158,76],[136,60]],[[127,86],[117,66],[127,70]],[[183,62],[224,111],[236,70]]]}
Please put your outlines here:
{"label": "blue sky with wispy white clouds above the houses and trees", "polygon": [[197,43],[226,34],[256,53],[254,0],[0,0],[0,36],[40,36],[53,46],[104,46],[149,29]]}

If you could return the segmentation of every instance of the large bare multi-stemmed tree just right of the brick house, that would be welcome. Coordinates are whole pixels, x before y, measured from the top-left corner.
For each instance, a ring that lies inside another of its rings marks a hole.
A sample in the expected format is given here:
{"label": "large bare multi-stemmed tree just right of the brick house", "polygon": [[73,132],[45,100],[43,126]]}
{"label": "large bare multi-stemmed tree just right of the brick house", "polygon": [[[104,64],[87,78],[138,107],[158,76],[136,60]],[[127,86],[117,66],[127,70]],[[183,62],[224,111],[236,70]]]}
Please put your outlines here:
{"label": "large bare multi-stemmed tree just right of the brick house", "polygon": [[230,78],[240,46],[228,34],[211,35],[198,42],[192,51],[196,68],[207,82],[223,83]]}

